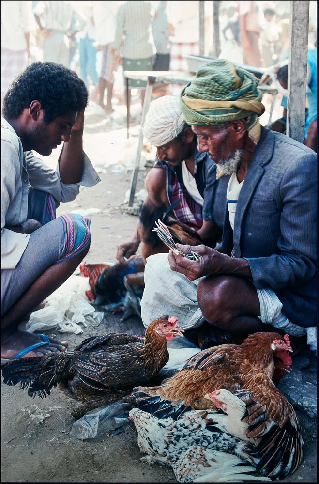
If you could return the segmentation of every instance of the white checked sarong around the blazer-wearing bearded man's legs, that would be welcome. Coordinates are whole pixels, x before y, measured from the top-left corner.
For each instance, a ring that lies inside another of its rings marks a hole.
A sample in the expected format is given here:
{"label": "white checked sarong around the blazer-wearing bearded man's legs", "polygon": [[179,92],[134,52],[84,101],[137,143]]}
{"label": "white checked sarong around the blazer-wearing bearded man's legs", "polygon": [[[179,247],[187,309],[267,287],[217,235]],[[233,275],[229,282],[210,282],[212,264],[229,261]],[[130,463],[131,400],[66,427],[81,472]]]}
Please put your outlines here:
{"label": "white checked sarong around the blazer-wearing bearded man's legs", "polygon": [[[197,302],[199,281],[189,281],[186,276],[172,271],[167,254],[155,254],[147,258],[145,266],[145,289],[141,300],[141,316],[145,328],[151,321],[168,314],[177,316],[184,329],[196,328],[204,322]],[[260,319],[265,324],[282,329],[293,336],[303,336],[305,328],[289,321],[281,312],[282,304],[271,289],[257,289],[260,302]]]}

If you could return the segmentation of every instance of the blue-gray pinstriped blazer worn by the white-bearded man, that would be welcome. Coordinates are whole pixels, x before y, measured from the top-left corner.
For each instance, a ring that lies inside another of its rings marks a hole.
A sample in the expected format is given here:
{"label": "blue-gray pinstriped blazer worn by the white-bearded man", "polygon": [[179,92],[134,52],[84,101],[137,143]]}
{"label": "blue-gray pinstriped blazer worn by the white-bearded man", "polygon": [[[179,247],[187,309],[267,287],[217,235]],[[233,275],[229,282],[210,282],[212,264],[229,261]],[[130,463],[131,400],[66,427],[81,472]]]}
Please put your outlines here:
{"label": "blue-gray pinstriped blazer worn by the white-bearded man", "polygon": [[262,127],[236,207],[232,231],[226,203],[229,176],[215,182],[213,209],[223,250],[247,259],[257,289],[270,288],[282,312],[304,328],[317,317],[317,155]]}

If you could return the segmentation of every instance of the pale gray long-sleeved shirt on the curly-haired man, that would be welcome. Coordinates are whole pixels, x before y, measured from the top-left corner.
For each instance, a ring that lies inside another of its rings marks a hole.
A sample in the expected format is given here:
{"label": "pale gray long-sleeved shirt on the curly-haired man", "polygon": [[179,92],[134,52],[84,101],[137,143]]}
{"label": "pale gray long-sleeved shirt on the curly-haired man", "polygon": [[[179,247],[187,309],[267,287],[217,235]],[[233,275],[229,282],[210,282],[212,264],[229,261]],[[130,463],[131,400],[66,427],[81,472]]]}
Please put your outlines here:
{"label": "pale gray long-sleeved shirt on the curly-haired man", "polygon": [[30,234],[14,232],[10,227],[21,225],[28,218],[29,186],[50,193],[60,203],[74,200],[80,185],[92,187],[99,181],[84,155],[82,180],[65,185],[59,165],[53,170],[33,152],[24,152],[15,130],[1,117],[1,268],[15,268],[28,245]]}

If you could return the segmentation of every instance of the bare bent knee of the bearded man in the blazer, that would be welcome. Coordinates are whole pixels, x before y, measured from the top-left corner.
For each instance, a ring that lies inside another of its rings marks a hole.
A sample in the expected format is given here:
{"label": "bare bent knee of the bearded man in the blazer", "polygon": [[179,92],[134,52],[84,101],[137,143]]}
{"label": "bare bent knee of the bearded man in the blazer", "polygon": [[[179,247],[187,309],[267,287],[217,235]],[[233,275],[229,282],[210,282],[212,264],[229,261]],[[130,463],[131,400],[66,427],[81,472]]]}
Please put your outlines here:
{"label": "bare bent knee of the bearded man in the blazer", "polygon": [[257,317],[260,305],[255,286],[237,276],[211,276],[202,279],[197,301],[206,321],[231,333],[274,331]]}

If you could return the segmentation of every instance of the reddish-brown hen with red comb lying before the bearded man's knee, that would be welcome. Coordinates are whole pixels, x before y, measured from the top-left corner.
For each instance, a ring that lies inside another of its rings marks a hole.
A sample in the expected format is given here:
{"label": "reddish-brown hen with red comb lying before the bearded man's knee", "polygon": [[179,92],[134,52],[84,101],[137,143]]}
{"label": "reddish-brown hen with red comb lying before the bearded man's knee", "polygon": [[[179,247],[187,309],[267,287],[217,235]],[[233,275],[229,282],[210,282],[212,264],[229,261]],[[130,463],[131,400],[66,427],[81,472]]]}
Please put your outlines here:
{"label": "reddish-brown hen with red comb lying before the bearded man's knee", "polygon": [[212,404],[205,395],[225,388],[230,391],[247,387],[251,373],[247,363],[256,374],[269,379],[276,372],[289,371],[292,352],[289,336],[284,339],[278,333],[256,332],[249,335],[241,345],[221,344],[201,351],[188,359],[185,366],[159,387],[145,389],[149,395],[159,395],[174,405],[183,403],[192,409],[206,409]]}

